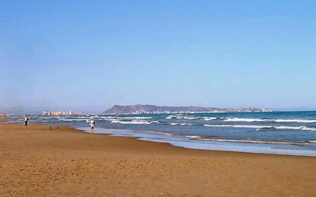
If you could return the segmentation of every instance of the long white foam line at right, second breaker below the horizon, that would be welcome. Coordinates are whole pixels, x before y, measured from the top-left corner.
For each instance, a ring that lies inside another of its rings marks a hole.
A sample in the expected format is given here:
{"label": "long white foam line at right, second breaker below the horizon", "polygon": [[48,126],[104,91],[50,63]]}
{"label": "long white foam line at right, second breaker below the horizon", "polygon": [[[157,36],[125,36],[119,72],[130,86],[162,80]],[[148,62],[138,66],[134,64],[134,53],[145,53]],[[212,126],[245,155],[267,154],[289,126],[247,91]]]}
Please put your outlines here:
{"label": "long white foam line at right, second breaker below the horizon", "polygon": [[279,130],[304,130],[304,131],[316,131],[316,128],[310,128],[306,126],[301,127],[289,127],[289,126],[259,126],[259,125],[207,125],[205,127],[234,127],[234,128],[249,128],[249,129],[279,129]]}

